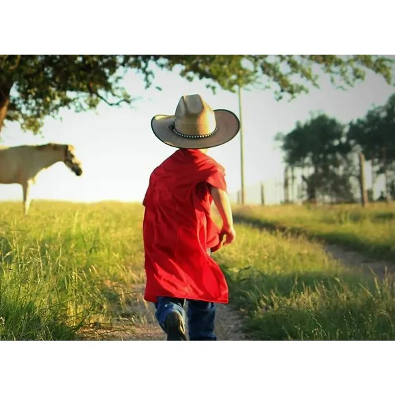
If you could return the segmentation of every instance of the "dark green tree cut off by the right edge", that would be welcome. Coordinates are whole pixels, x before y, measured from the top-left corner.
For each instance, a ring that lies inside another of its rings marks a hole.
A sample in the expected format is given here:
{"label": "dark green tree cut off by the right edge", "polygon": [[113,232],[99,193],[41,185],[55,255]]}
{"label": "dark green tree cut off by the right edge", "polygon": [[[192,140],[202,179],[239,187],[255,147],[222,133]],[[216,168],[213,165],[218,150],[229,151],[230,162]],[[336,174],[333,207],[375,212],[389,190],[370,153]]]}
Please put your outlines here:
{"label": "dark green tree cut off by the right edge", "polygon": [[361,150],[372,161],[377,175],[386,175],[386,188],[391,193],[395,182],[395,94],[386,104],[369,110],[365,117],[350,122],[347,133],[350,145]]}

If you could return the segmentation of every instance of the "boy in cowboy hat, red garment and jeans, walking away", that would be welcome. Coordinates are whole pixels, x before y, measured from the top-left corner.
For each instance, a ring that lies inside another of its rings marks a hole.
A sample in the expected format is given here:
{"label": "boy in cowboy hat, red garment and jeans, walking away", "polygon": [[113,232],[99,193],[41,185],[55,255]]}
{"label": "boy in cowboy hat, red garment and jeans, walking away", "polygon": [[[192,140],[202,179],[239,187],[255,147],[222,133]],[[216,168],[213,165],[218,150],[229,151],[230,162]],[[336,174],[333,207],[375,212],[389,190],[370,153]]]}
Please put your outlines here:
{"label": "boy in cowboy hat, red garment and jeans, walking away", "polygon": [[[144,298],[156,307],[167,340],[216,340],[215,304],[228,303],[228,285],[211,252],[233,243],[235,230],[224,168],[207,156],[240,128],[236,115],[214,110],[199,95],[182,96],[175,115],[157,115],[151,127],[158,139],[177,147],[151,174],[143,200],[147,282]],[[222,218],[211,218],[211,203]]]}

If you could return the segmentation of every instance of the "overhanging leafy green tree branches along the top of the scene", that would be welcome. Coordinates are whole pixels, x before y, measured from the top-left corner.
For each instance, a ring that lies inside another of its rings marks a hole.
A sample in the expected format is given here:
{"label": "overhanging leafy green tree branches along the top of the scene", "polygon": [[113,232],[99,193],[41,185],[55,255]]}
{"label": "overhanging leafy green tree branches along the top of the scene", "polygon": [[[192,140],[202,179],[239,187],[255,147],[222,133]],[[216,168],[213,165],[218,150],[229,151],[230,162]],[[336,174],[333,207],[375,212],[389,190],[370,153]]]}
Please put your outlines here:
{"label": "overhanging leafy green tree branches along the top of the scene", "polygon": [[154,65],[177,68],[189,81],[204,79],[213,90],[274,85],[280,100],[318,88],[319,69],[338,87],[354,86],[367,70],[390,84],[393,62],[374,55],[0,55],[0,130],[7,120],[38,133],[44,118],[57,117],[62,107],[79,112],[95,109],[101,101],[130,104],[122,77],[135,70],[150,87]]}

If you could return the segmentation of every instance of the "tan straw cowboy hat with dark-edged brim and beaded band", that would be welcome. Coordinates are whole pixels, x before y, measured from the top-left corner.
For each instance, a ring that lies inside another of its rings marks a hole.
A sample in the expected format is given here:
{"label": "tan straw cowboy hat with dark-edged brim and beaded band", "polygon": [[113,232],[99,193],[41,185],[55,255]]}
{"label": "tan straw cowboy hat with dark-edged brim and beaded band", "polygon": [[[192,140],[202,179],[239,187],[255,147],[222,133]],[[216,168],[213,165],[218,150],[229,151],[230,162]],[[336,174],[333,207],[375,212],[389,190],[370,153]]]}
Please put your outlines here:
{"label": "tan straw cowboy hat with dark-edged brim and beaded band", "polygon": [[182,96],[175,115],[156,115],[151,128],[172,147],[202,149],[227,143],[240,129],[239,119],[228,110],[213,110],[200,95]]}

